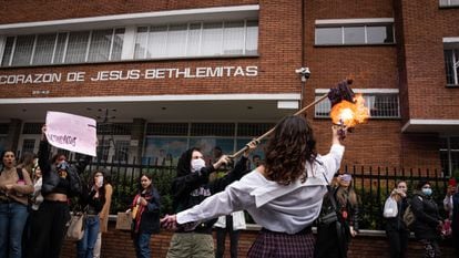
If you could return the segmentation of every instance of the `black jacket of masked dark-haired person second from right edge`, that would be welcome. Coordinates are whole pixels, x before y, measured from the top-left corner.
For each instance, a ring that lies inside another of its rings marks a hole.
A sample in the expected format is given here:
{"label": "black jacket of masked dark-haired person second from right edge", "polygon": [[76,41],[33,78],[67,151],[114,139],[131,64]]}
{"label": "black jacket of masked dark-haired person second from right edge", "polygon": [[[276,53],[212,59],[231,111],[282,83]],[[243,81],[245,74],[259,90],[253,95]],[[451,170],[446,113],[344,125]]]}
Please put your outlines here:
{"label": "black jacket of masked dark-haired person second from right edge", "polygon": [[416,217],[414,230],[416,238],[437,239],[440,236],[437,226],[441,218],[435,200],[430,196],[417,192],[411,199],[411,209]]}

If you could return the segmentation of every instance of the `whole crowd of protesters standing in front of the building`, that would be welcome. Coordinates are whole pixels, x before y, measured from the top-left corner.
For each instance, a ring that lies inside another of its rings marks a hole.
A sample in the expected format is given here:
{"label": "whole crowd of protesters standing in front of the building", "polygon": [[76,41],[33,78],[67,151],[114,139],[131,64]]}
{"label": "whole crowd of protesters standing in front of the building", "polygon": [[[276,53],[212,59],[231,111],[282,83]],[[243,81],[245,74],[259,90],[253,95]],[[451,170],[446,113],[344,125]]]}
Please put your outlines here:
{"label": "whole crowd of protesters standing in front of the building", "polygon": [[[167,258],[222,258],[226,235],[230,254],[238,255],[239,230],[245,211],[262,226],[249,258],[346,258],[351,238],[359,234],[360,199],[353,176],[338,173],[346,128],[332,127],[327,154],[316,152],[314,132],[306,118],[284,117],[261,155],[251,153],[252,141],[234,165],[222,148],[204,161],[197,147],[177,161],[172,182],[173,211],[161,218],[161,196],[150,174],[139,177],[139,188],[129,206],[135,257],[152,257],[153,234],[173,230]],[[79,258],[101,257],[102,233],[108,220],[113,186],[110,173],[94,169],[81,175],[91,157],[70,163],[65,155],[51,159],[45,126],[38,155],[16,161],[13,151],[1,154],[0,257],[58,258],[71,214],[85,214],[84,235],[75,244]],[[424,246],[425,257],[440,257],[440,240],[450,238],[459,257],[459,192],[453,178],[443,199],[446,216],[432,198],[428,180],[420,180],[409,195],[407,182],[397,182],[384,205],[390,257],[407,257],[410,231]],[[411,216],[411,218],[410,218]],[[317,227],[313,235],[312,227]],[[214,236],[216,247],[214,246]]]}

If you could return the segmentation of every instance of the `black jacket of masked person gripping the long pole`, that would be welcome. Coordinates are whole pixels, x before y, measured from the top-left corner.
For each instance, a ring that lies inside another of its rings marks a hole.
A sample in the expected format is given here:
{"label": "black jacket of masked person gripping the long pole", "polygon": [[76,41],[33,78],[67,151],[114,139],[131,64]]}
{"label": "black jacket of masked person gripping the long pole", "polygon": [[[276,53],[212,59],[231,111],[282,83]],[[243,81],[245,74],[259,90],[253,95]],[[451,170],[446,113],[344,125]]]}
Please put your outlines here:
{"label": "black jacket of masked person gripping the long pole", "polygon": [[[188,209],[201,204],[206,197],[222,192],[231,183],[241,179],[247,172],[247,158],[241,157],[235,167],[222,178],[210,182],[208,175],[214,172],[212,165],[201,168],[200,172],[191,172],[191,157],[193,148],[182,154],[177,164],[177,175],[172,182],[174,193],[173,206],[175,213]],[[194,229],[196,233],[212,233],[215,219],[207,220]],[[178,230],[180,231],[180,230]]]}

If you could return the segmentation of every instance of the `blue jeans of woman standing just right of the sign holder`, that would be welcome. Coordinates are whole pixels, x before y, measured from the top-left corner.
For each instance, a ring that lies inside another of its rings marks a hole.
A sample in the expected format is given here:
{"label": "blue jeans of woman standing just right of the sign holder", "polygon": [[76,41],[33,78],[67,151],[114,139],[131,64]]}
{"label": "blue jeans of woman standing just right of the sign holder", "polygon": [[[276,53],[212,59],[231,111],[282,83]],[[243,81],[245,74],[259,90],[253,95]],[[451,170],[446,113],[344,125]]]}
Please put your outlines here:
{"label": "blue jeans of woman standing just right of the sign holder", "polygon": [[95,240],[98,240],[99,226],[98,215],[86,217],[83,238],[76,242],[78,258],[92,258]]}

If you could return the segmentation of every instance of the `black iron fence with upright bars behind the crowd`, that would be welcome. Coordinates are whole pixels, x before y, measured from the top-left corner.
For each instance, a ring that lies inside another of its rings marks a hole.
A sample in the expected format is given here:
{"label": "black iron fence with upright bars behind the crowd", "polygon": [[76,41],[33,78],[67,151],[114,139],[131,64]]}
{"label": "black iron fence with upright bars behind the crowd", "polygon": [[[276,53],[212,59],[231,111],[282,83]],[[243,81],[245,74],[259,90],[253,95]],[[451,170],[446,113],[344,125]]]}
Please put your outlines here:
{"label": "black iron fence with upright bars behind the crowd", "polygon": [[[162,196],[162,214],[172,213],[171,182],[175,176],[174,166],[155,166],[151,164],[123,164],[123,163],[92,163],[84,175],[88,178],[91,172],[104,168],[111,175],[113,185],[111,214],[124,211],[131,204],[133,196],[139,190],[139,177],[142,174],[153,175],[153,184]],[[354,177],[354,187],[360,199],[360,228],[382,229],[384,203],[395,187],[396,182],[406,180],[409,196],[419,180],[427,179],[431,183],[434,198],[445,215],[442,199],[446,194],[448,179],[437,169],[405,169],[389,167],[345,166],[343,171]]]}

